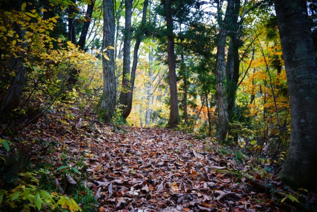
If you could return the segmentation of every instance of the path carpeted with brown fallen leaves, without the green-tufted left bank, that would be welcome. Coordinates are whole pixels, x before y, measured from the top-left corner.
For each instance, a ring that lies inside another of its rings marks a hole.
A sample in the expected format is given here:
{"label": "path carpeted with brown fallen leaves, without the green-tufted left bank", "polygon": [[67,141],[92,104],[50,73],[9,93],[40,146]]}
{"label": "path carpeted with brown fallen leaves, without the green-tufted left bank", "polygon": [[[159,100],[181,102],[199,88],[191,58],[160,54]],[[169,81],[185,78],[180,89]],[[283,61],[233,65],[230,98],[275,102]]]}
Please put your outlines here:
{"label": "path carpeted with brown fallen leaves, without the green-tufted left bank", "polygon": [[[249,166],[238,164],[232,152],[213,141],[164,128],[103,128],[102,135],[82,143],[90,150],[84,161],[87,185],[95,191],[100,211],[278,210],[249,180],[263,184],[259,173],[247,173]],[[69,145],[76,152],[77,144]]]}

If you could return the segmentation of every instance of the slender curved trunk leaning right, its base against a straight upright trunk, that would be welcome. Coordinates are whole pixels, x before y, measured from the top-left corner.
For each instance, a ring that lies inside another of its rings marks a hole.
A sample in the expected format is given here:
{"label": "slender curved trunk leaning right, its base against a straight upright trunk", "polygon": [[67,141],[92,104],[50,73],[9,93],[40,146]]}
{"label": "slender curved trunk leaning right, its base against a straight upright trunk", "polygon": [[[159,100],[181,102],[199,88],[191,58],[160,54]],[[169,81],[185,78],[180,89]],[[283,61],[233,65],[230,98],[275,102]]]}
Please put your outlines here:
{"label": "slender curved trunk leaning right, its base against a straight upright trunk", "polygon": [[[148,5],[149,5],[149,0],[144,0],[142,22],[141,22],[141,26],[142,27],[145,27],[145,24],[146,24]],[[122,116],[125,119],[128,118],[128,116],[131,113],[131,109],[132,109],[135,72],[136,72],[137,66],[138,66],[138,52],[139,52],[139,47],[140,47],[140,44],[141,44],[141,41],[142,41],[142,36],[143,36],[143,32],[142,33],[140,32],[140,34],[137,36],[137,41],[135,42],[135,45],[134,45],[133,64],[132,64],[131,81],[130,81],[130,92],[128,93],[128,99],[127,99],[126,107],[124,108],[124,110],[122,112]]]}

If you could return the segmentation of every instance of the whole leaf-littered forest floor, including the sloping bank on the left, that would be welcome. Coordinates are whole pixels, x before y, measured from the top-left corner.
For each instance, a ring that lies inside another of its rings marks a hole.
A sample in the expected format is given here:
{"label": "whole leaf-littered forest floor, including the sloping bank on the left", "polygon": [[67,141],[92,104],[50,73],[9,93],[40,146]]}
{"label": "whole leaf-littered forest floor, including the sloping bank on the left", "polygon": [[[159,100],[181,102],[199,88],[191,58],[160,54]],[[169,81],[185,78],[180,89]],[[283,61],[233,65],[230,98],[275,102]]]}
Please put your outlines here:
{"label": "whole leaf-littered forest floor, including the sloping bank on the left", "polygon": [[[269,164],[237,147],[177,130],[107,125],[89,108],[61,107],[7,139],[14,150],[3,164],[10,168],[1,170],[1,189],[17,185],[17,172],[35,172],[42,189],[74,198],[83,211],[281,212],[316,207],[316,194],[294,192]],[[17,152],[24,156],[17,159]]]}

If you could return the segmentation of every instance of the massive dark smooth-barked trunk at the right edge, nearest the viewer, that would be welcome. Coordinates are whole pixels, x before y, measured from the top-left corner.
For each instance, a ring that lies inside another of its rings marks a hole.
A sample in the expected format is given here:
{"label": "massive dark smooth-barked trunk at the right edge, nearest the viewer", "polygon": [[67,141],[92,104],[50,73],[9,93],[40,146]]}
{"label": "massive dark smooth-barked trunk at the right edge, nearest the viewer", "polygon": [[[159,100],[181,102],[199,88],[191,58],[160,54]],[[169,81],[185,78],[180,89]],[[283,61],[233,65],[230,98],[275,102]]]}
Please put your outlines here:
{"label": "massive dark smooth-barked trunk at the right edge, nearest the viewer", "polygon": [[279,173],[294,187],[317,191],[317,69],[306,0],[275,0],[291,96],[291,141]]}

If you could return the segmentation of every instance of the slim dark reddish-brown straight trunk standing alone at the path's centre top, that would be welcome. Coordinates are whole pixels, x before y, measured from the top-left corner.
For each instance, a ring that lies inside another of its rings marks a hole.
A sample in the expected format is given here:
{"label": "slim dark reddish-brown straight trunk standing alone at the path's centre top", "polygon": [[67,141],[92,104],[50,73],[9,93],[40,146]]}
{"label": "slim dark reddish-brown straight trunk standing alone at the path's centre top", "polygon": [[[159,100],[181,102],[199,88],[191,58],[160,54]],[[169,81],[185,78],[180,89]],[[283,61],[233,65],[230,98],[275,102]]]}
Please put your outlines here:
{"label": "slim dark reddish-brown straight trunk standing alone at the path's centre top", "polygon": [[169,72],[169,88],[170,88],[170,112],[168,127],[173,129],[178,125],[178,100],[177,100],[177,84],[175,72],[175,53],[173,39],[173,18],[171,14],[171,6],[169,0],[163,0],[166,15],[166,33],[167,33],[167,57]]}

